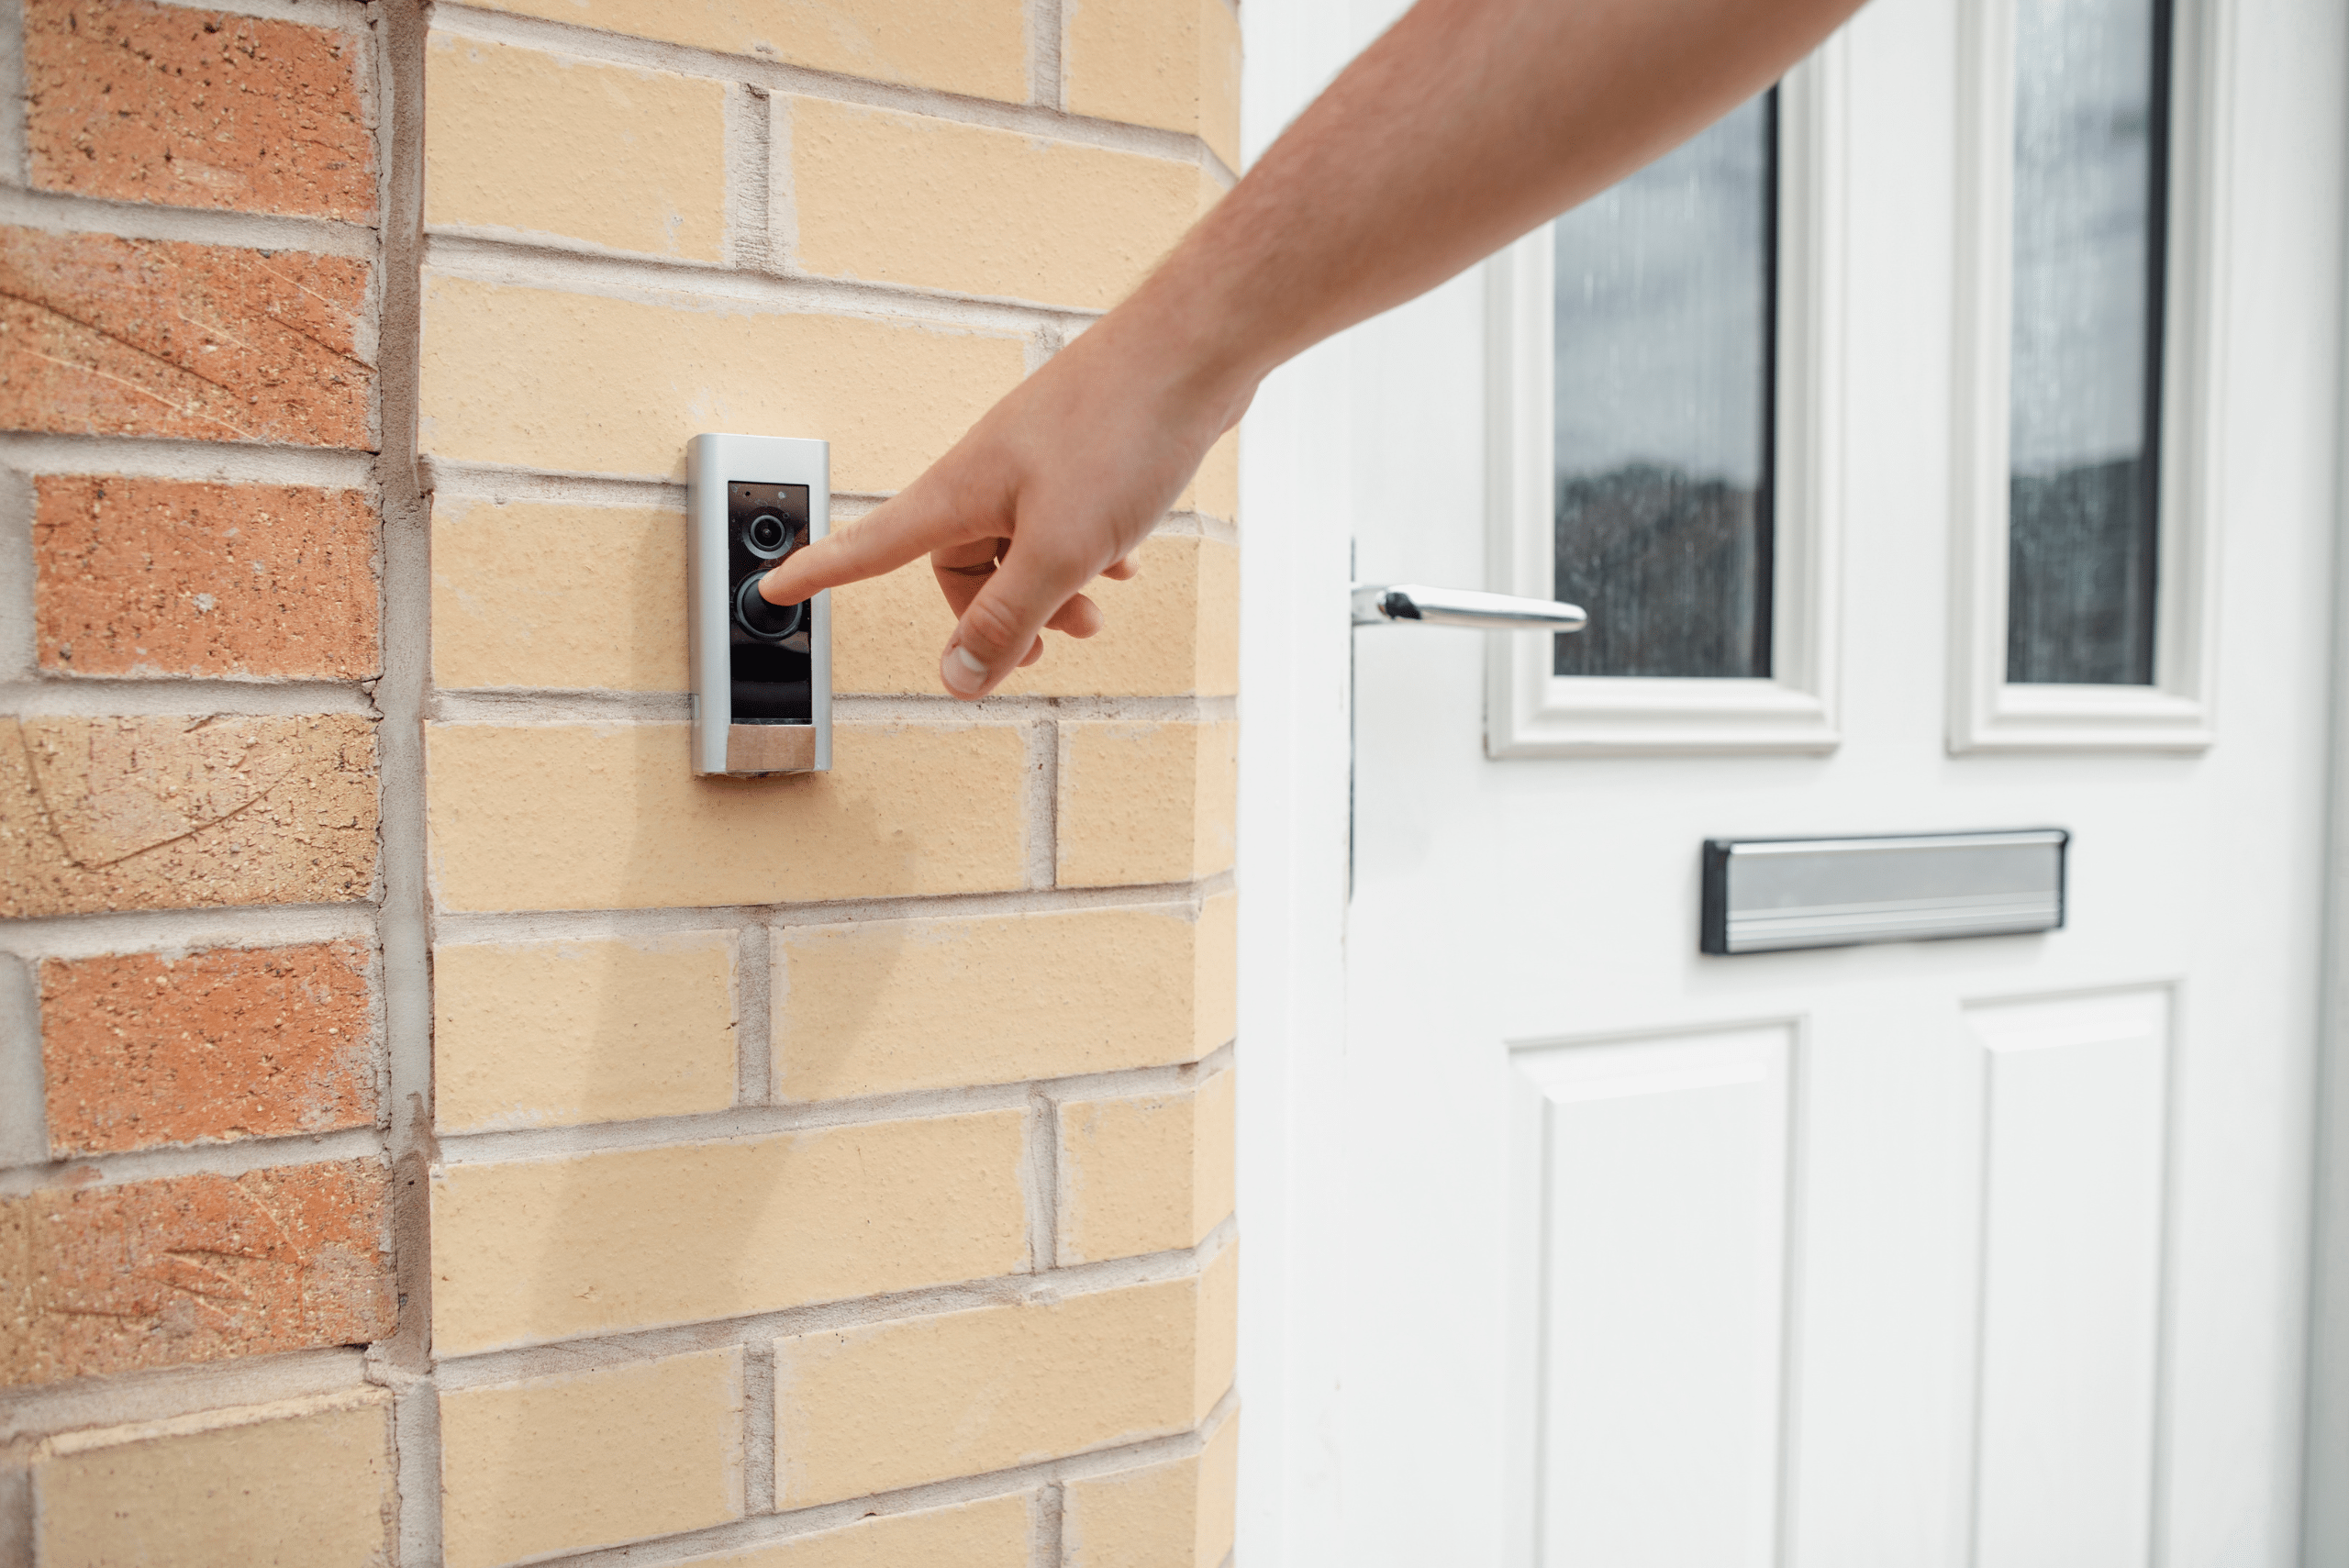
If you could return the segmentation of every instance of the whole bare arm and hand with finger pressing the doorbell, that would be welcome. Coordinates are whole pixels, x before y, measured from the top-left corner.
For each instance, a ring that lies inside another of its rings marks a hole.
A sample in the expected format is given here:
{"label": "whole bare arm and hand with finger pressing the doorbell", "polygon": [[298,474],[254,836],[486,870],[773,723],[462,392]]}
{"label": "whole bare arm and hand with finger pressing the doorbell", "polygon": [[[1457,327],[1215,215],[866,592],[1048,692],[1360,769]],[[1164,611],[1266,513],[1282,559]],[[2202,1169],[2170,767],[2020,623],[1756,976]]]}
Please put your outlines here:
{"label": "whole bare arm and hand with finger pressing the doorbell", "polygon": [[1860,0],[1419,0],[1116,310],[857,528],[761,594],[928,554],[984,697],[1125,556],[1285,359],[1604,190],[1802,59]]}

